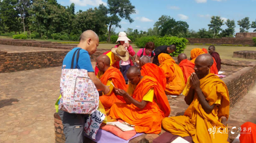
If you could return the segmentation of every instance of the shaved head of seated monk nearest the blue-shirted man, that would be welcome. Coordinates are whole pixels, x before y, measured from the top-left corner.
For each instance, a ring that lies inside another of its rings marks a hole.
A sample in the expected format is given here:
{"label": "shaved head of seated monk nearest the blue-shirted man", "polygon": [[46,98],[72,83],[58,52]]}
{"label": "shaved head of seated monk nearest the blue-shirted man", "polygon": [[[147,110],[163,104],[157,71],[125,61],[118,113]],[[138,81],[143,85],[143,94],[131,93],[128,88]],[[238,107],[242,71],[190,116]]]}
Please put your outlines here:
{"label": "shaved head of seated monk nearest the blue-shirted man", "polygon": [[110,67],[109,57],[107,55],[98,56],[96,59],[96,66],[104,73]]}

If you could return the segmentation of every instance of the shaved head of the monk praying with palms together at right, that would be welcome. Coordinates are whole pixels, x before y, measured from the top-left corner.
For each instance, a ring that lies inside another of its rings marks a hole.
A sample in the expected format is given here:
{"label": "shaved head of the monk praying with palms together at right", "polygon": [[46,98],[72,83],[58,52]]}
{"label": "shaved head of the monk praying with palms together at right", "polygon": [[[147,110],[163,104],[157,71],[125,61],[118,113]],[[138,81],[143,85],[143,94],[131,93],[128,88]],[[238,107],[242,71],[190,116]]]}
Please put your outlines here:
{"label": "shaved head of the monk praying with palms together at right", "polygon": [[195,74],[202,79],[209,74],[209,70],[213,65],[213,57],[209,54],[202,54],[195,59]]}

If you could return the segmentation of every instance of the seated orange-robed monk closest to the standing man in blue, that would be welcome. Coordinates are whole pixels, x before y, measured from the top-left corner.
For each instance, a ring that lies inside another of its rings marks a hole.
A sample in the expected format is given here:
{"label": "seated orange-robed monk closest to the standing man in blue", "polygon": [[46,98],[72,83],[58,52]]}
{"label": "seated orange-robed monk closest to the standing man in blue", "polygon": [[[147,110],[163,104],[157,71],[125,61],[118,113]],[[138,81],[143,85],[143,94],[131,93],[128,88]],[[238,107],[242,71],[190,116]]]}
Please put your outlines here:
{"label": "seated orange-robed monk closest to the standing man in blue", "polygon": [[[97,58],[97,67],[103,73],[100,80],[104,85],[109,86],[110,92],[100,96],[100,101],[105,110],[108,110],[115,102],[124,102],[123,97],[115,95],[114,86],[126,90],[125,80],[121,71],[110,66],[110,59],[107,55],[101,55]],[[114,84],[114,86],[113,86]]]}

